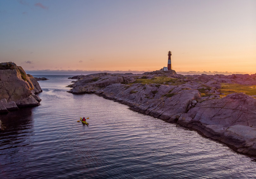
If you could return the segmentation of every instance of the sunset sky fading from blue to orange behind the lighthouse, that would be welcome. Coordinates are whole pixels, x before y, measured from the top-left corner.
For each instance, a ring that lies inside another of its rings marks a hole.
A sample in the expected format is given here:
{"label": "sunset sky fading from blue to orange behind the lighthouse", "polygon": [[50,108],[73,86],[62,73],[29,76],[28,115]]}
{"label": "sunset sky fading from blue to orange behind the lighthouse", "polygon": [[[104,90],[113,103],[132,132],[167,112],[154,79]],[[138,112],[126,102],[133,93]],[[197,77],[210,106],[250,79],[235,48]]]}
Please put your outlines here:
{"label": "sunset sky fading from blue to orange behind the lighthouse", "polygon": [[[30,74],[256,73],[256,0],[0,0],[0,62]],[[210,72],[209,72],[210,71]]]}

